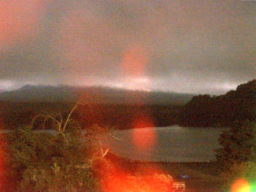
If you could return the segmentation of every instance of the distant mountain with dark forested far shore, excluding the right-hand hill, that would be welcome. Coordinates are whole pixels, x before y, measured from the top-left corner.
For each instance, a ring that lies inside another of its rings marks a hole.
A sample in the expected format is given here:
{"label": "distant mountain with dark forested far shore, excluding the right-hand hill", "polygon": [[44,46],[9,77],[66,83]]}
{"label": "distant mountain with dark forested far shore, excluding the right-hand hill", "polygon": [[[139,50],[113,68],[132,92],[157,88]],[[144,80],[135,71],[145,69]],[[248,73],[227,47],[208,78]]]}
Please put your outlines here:
{"label": "distant mountain with dark forested far shore, excluding the right-hand hill", "polygon": [[192,97],[191,94],[107,87],[26,85],[0,94],[0,129],[28,125],[34,116],[46,110],[58,109],[65,114],[80,99],[90,104],[73,114],[72,118],[78,120],[82,128],[92,124],[119,129],[170,126],[178,123],[182,106]]}

